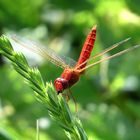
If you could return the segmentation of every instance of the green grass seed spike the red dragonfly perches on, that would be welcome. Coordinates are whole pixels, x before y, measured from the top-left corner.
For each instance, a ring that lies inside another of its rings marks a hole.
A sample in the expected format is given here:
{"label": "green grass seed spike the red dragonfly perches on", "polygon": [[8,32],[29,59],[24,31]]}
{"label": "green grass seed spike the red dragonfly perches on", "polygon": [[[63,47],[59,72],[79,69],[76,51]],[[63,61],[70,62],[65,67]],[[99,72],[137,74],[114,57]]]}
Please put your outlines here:
{"label": "green grass seed spike the red dragonfly perches on", "polygon": [[46,83],[45,86],[39,70],[30,68],[23,54],[14,52],[6,36],[0,38],[0,50],[12,61],[15,70],[27,80],[37,99],[46,106],[49,115],[65,130],[67,137],[72,140],[86,140],[87,136],[80,120],[72,115],[64,98],[57,95],[51,83]]}

